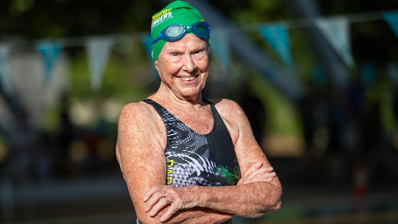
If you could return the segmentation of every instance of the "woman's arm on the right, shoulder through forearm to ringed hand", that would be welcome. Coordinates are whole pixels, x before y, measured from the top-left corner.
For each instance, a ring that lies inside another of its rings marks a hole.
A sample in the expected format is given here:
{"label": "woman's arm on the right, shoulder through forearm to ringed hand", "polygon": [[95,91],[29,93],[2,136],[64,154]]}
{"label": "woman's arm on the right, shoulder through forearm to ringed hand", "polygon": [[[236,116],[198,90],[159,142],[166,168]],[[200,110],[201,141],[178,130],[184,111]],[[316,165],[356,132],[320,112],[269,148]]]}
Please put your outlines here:
{"label": "woman's arm on the right, shoulder through forearm to ringed hand", "polygon": [[[170,198],[171,206],[162,215],[164,216],[163,219],[172,216],[182,208],[188,208],[186,207],[187,204],[190,204],[189,207],[206,207],[248,218],[256,218],[280,209],[281,183],[276,176],[272,178],[271,182],[266,182],[263,179],[264,175],[267,177],[266,174],[272,168],[270,168],[271,165],[253,136],[246,115],[236,102],[232,100],[222,101],[224,101],[222,104],[228,109],[228,113],[222,113],[222,109],[221,111],[218,109],[220,114],[231,116],[230,118],[226,117],[226,120],[233,120],[238,128],[235,152],[241,173],[244,173],[244,175],[237,186],[152,187],[144,195],[148,210],[156,211],[160,209],[156,203],[159,198],[154,196],[154,193],[161,191],[163,195],[168,195],[167,198]],[[259,162],[261,163],[258,164]],[[263,165],[259,168],[261,164]]]}

